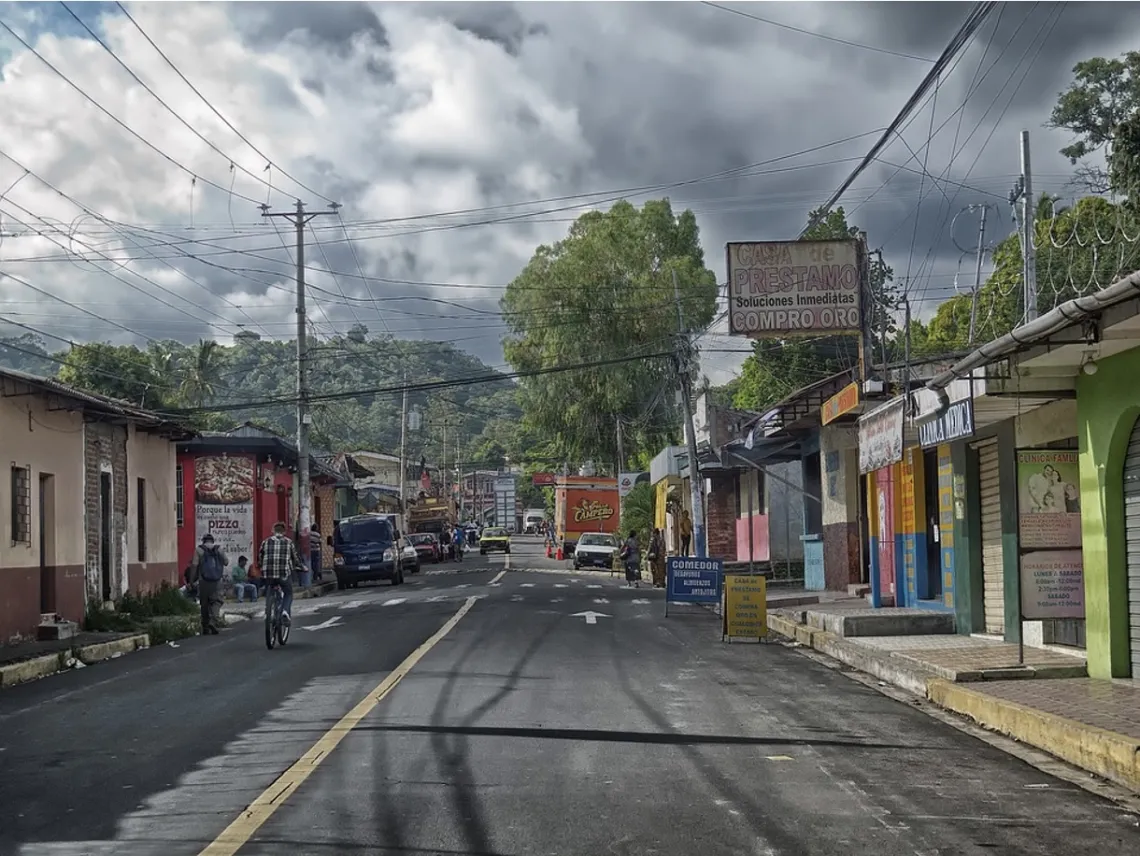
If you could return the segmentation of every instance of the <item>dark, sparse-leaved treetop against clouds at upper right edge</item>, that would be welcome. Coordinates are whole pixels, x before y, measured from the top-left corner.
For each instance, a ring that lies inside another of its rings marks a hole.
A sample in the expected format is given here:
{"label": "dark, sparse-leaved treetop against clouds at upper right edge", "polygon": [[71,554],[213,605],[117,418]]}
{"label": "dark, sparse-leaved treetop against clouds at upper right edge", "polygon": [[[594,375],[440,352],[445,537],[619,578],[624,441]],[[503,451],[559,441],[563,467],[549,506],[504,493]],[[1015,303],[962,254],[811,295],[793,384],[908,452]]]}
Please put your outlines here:
{"label": "dark, sparse-leaved treetop against clouds at upper right edge", "polygon": [[[1140,51],[1117,59],[1093,57],[1073,66],[1073,82],[1060,93],[1049,117],[1050,128],[1064,128],[1075,139],[1061,149],[1073,164],[1102,153],[1112,161],[1117,127],[1140,112]],[[1084,164],[1077,179],[1092,193],[1112,187],[1100,166]]]}

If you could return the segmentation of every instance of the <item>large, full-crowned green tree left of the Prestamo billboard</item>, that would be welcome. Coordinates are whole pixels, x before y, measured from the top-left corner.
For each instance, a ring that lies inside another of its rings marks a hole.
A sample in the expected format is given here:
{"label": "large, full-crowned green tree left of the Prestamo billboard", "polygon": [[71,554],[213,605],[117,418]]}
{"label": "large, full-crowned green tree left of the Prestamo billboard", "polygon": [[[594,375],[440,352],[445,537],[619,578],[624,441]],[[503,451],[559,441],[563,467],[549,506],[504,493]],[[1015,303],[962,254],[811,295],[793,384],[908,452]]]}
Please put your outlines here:
{"label": "large, full-crowned green tree left of the Prestamo billboard", "polygon": [[[520,372],[671,350],[679,309],[687,329],[712,320],[717,283],[705,267],[691,211],[668,199],[641,209],[620,202],[583,214],[569,235],[543,245],[507,286],[502,311],[507,360]],[[675,431],[673,372],[644,359],[523,378],[524,422],[573,462],[617,458],[617,421],[628,457]]]}

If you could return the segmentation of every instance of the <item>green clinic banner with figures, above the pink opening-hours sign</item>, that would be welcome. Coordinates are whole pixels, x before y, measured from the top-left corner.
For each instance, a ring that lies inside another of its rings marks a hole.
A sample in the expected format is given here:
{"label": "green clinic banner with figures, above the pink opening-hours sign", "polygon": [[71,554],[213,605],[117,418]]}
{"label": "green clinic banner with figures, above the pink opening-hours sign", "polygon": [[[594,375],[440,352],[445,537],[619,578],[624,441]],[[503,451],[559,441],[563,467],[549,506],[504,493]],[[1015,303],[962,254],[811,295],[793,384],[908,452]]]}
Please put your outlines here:
{"label": "green clinic banner with figures, above the pink opening-hours sign", "polygon": [[1080,549],[1081,474],[1075,449],[1017,453],[1018,544],[1028,549]]}

